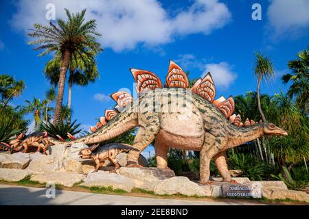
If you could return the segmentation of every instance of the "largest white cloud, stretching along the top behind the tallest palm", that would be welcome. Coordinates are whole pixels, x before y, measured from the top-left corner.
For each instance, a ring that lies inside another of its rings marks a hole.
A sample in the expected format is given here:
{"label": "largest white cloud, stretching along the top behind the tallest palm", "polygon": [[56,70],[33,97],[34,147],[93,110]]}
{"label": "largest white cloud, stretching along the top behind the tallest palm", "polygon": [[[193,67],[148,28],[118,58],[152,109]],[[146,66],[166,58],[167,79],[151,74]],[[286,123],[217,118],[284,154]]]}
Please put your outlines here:
{"label": "largest white cloud, stretching along the top behind the tallest palm", "polygon": [[135,49],[137,44],[153,47],[171,42],[178,35],[210,34],[231,21],[229,9],[218,0],[196,0],[174,16],[157,0],[19,0],[12,27],[26,33],[34,23],[46,24],[47,3],[56,5],[56,18],[65,18],[63,8],[71,12],[87,8],[87,18],[98,21],[102,46],[114,51]]}

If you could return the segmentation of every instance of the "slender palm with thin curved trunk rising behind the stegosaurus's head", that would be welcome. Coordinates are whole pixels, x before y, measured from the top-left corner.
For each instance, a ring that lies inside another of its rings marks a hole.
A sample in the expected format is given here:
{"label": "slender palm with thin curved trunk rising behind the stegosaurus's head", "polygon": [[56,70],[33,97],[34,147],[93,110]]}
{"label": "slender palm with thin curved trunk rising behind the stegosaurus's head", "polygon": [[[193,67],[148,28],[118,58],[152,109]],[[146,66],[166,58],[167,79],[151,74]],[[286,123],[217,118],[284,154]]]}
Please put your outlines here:
{"label": "slender palm with thin curved trunk rising behind the stegosaurus's head", "polygon": [[268,79],[270,77],[273,77],[274,71],[273,71],[273,63],[271,60],[266,56],[262,55],[258,52],[255,53],[255,70],[254,73],[258,77],[258,87],[257,87],[257,98],[258,98],[258,110],[262,116],[262,120],[264,123],[266,123],[266,118],[264,116],[264,113],[262,112],[261,107],[261,100],[260,100],[260,83],[262,79]]}

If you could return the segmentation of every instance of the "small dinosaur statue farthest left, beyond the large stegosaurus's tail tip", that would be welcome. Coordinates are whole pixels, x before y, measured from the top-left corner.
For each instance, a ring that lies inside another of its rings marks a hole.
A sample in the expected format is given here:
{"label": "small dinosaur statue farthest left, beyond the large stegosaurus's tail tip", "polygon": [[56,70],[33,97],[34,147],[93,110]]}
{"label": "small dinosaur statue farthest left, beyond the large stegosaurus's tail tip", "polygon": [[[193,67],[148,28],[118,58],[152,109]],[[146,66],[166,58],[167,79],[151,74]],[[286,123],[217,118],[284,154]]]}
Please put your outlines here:
{"label": "small dinosaur statue farthest left, beyond the large stegosaurus's tail tip", "polygon": [[47,138],[47,131],[35,131],[27,136],[23,132],[17,138],[11,140],[9,144],[14,151],[21,151],[23,149],[21,152],[26,153],[30,146],[36,146],[38,148],[36,151],[43,150],[43,154],[46,154],[46,149],[49,145]]}

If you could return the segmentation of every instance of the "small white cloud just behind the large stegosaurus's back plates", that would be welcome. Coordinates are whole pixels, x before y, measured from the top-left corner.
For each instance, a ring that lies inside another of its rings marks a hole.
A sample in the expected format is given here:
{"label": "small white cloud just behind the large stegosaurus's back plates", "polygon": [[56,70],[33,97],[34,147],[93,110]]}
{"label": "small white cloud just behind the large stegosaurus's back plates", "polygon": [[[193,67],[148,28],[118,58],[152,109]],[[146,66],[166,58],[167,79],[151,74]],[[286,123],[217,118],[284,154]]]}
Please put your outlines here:
{"label": "small white cloud just behind the large stegosaurus's back plates", "polygon": [[214,83],[219,88],[226,89],[237,78],[237,74],[232,71],[233,66],[227,62],[220,62],[219,64],[210,63],[205,65],[205,71],[201,77],[204,77],[208,72],[214,79]]}

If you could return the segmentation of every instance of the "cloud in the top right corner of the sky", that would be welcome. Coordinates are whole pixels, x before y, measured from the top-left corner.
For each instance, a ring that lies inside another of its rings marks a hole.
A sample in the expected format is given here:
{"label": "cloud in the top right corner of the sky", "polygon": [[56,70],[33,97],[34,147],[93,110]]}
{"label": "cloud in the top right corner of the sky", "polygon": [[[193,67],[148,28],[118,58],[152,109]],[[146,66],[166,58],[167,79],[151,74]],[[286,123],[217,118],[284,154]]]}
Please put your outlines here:
{"label": "cloud in the top right corner of the sky", "polygon": [[273,0],[267,9],[273,38],[297,38],[309,26],[308,0]]}

